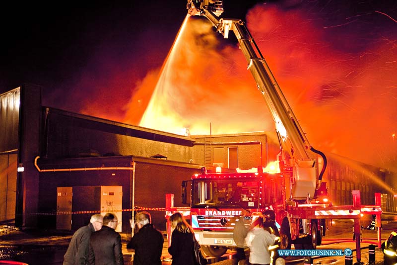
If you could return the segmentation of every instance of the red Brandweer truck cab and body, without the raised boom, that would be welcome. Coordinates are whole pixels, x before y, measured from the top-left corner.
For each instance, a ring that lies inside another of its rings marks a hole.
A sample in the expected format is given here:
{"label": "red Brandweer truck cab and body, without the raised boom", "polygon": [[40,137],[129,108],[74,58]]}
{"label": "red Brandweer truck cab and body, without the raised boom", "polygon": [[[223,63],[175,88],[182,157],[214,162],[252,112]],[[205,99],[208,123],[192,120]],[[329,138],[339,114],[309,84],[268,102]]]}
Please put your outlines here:
{"label": "red Brandweer truck cab and body, without the raised boom", "polygon": [[[182,183],[182,197],[187,202],[191,181],[191,224],[208,256],[221,256],[228,247],[235,246],[233,228],[238,219],[243,218],[249,226],[255,216],[266,212],[272,212],[275,217],[271,221],[279,232],[281,249],[290,249],[292,243],[297,249],[315,249],[321,244],[326,217],[319,210],[330,207],[324,182],[317,192],[322,196],[301,202],[292,199],[288,192],[291,172],[207,174],[203,171]],[[346,209],[343,213],[351,216],[359,211],[349,213]]]}

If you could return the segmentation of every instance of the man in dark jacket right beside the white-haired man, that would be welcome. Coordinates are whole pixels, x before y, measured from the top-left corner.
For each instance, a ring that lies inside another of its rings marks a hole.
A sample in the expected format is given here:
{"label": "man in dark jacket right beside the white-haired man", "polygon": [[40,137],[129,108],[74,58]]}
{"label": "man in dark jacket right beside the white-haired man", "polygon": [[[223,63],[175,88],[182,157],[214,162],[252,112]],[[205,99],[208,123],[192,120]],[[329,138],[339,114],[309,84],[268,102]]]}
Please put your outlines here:
{"label": "man in dark jacket right beside the white-haired man", "polygon": [[121,236],[115,231],[118,223],[114,213],[105,214],[102,229],[91,235],[88,264],[124,265]]}

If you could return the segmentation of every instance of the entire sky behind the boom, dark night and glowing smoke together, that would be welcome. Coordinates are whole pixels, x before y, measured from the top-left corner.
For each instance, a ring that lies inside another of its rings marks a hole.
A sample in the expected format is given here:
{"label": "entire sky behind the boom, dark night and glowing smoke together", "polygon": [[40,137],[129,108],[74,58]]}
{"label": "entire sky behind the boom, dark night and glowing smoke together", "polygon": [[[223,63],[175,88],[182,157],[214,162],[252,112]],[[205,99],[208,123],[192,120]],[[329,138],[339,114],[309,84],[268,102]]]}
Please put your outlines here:
{"label": "entire sky behind the boom, dark night and glowing smoke together", "polygon": [[[247,21],[315,148],[396,167],[396,1],[225,0],[224,9],[224,17]],[[187,12],[185,0],[35,2],[1,11],[0,93],[33,83],[46,106],[134,125]],[[173,66],[184,75],[155,98],[154,116],[172,114],[192,134],[209,122],[213,133],[273,130],[233,39],[212,37],[211,27],[197,32],[205,26],[194,20]],[[172,131],[155,124],[145,126]]]}

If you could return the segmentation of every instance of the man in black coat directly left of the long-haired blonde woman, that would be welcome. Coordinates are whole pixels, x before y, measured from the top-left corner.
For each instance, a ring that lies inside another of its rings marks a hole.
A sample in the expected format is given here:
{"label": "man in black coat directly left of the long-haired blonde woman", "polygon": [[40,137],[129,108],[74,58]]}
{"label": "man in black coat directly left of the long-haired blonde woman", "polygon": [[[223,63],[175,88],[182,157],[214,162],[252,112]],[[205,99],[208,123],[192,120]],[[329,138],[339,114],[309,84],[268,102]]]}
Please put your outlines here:
{"label": "man in black coat directly left of the long-haired blonde woman", "polygon": [[[164,238],[151,224],[150,213],[137,213],[135,223],[139,230],[127,244],[127,249],[135,250],[133,265],[161,265]],[[133,224],[131,226],[133,227]]]}

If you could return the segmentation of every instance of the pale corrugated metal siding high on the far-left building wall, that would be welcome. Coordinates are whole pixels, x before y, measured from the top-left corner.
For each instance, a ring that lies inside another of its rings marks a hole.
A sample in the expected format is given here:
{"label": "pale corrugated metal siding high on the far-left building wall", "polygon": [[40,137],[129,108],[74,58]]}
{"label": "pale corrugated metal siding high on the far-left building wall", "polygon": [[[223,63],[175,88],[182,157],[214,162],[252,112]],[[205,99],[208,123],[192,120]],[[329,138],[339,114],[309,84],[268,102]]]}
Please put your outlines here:
{"label": "pale corrugated metal siding high on the far-left building wall", "polygon": [[18,148],[20,88],[0,95],[0,153]]}

